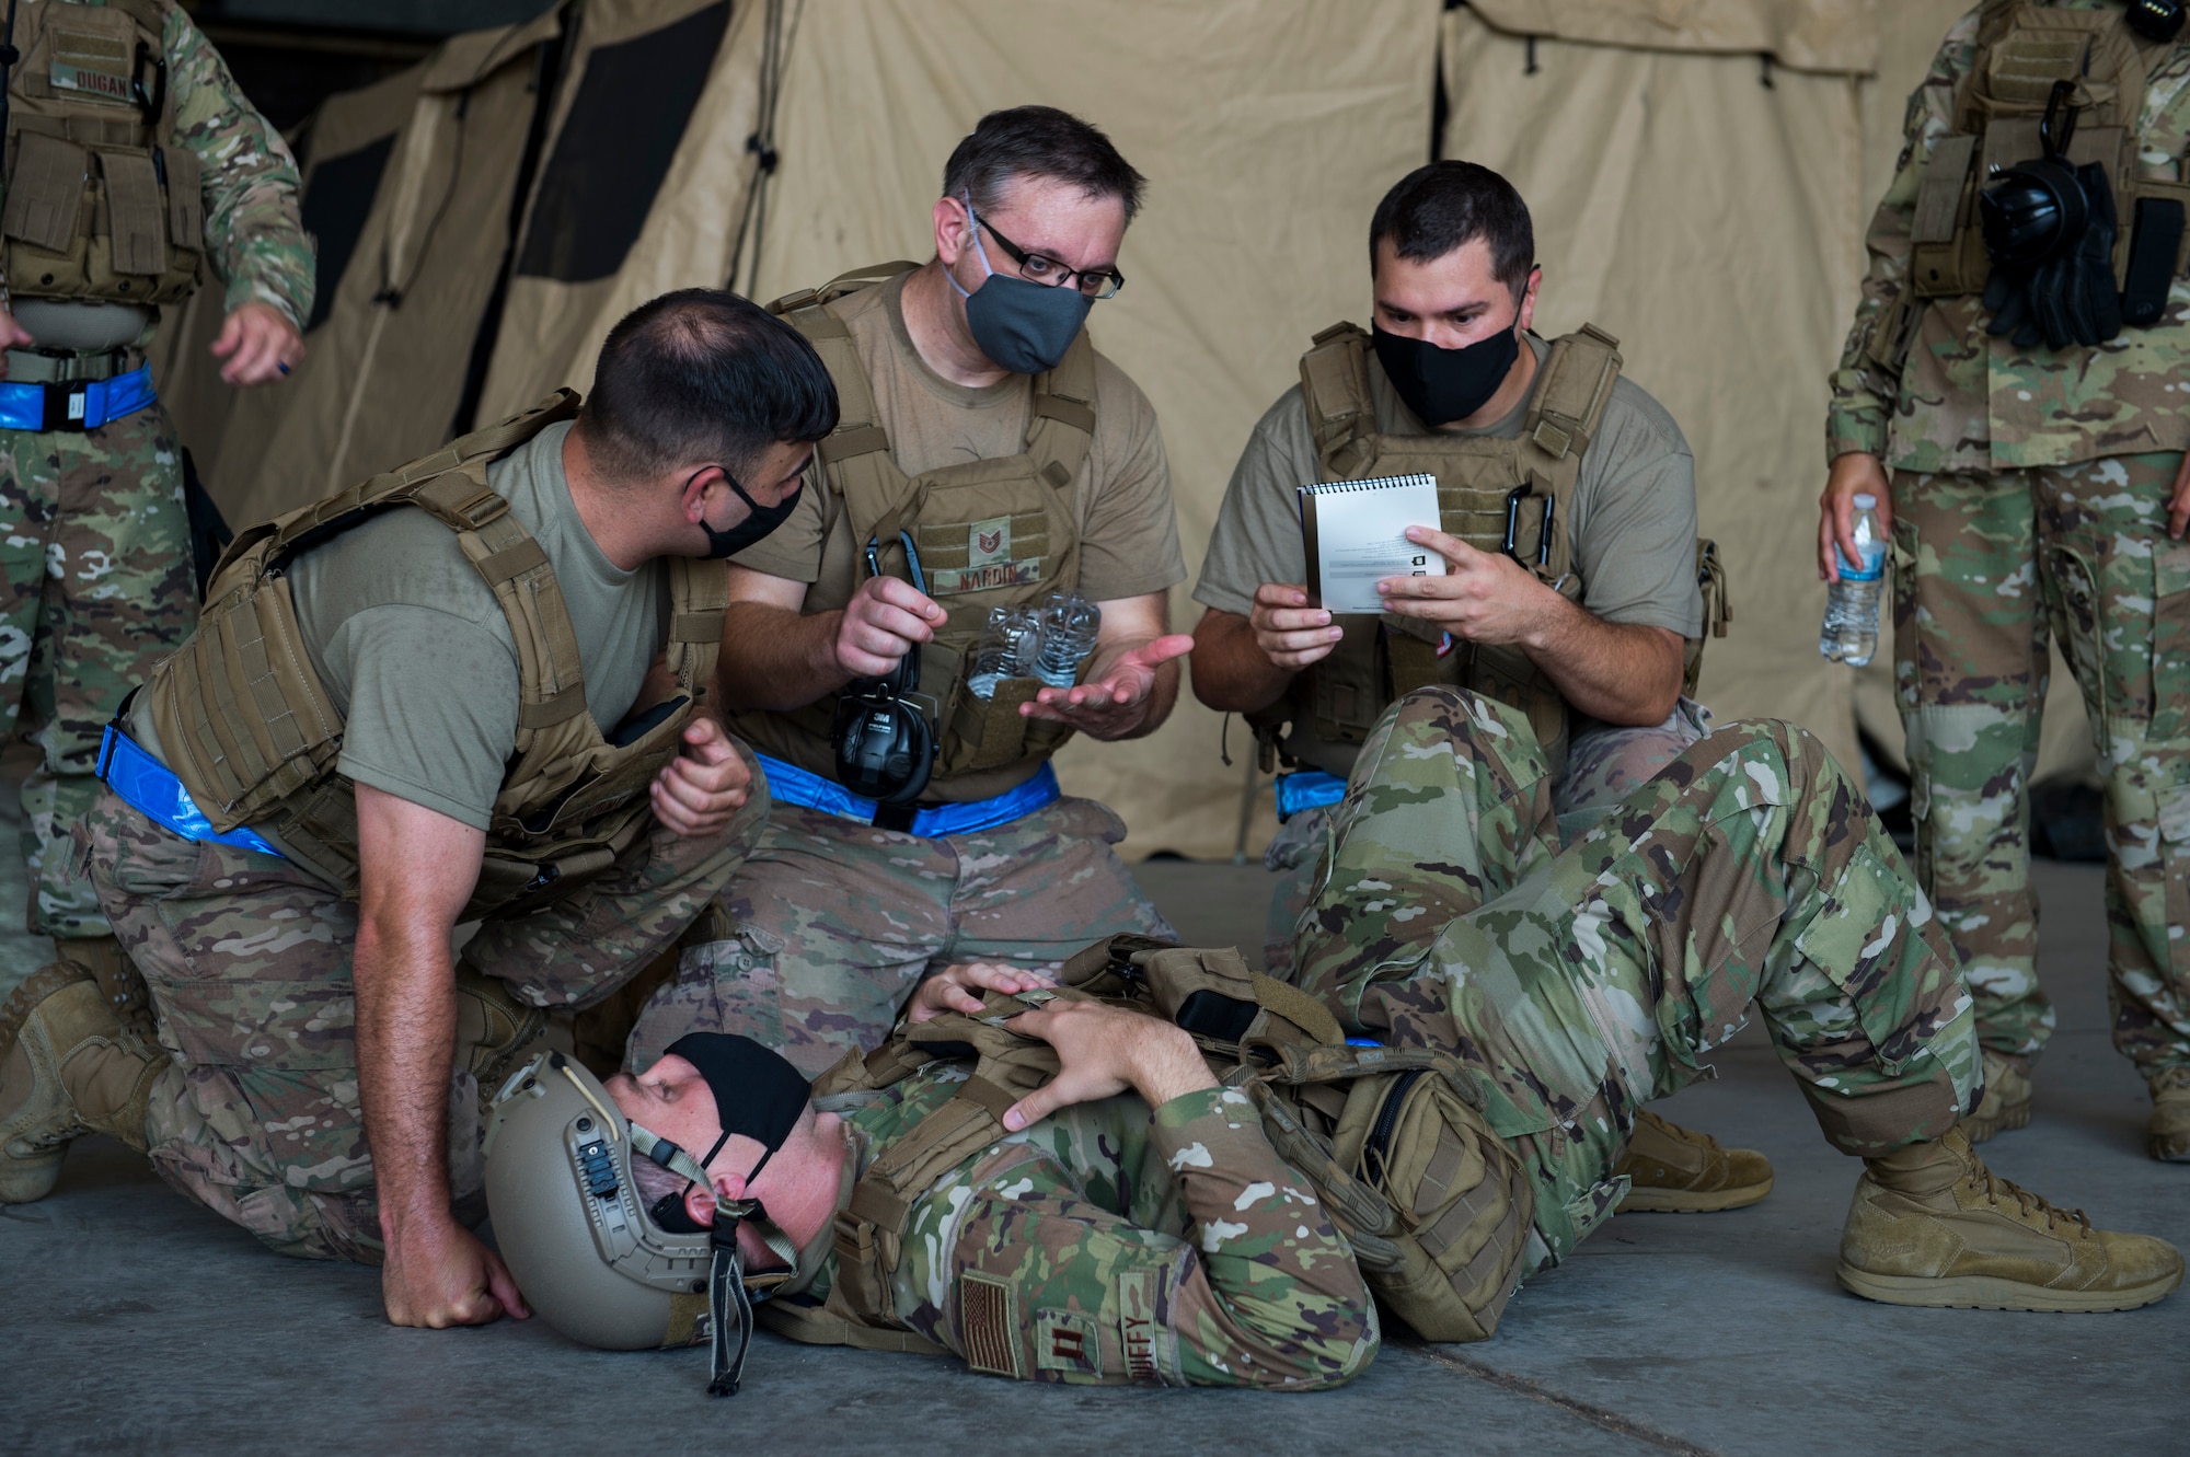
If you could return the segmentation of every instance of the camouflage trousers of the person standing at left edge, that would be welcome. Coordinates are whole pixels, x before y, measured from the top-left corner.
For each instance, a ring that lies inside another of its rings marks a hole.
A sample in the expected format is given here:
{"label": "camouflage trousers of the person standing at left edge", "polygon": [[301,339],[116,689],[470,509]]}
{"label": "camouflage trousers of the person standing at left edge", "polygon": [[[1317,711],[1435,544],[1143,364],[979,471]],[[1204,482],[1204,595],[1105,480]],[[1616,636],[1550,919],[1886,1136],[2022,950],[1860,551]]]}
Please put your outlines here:
{"label": "camouflage trousers of the person standing at left edge", "polygon": [[22,785],[28,928],[105,936],[70,825],[99,790],[99,731],[197,621],[166,409],[83,433],[0,431],[0,737],[39,724],[44,750]]}

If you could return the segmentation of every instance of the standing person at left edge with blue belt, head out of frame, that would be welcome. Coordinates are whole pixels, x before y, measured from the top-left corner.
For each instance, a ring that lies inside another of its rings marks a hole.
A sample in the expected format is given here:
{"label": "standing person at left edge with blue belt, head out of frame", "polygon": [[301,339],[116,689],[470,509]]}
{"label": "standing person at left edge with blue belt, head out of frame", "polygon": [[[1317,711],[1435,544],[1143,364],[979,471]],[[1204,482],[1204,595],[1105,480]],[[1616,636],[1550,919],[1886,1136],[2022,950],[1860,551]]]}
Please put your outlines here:
{"label": "standing person at left edge with blue belt, head out of frame", "polygon": [[0,210],[0,731],[22,788],[31,930],[125,1011],[142,991],[77,873],[99,731],[191,630],[182,451],[145,346],[210,254],[230,385],[289,372],[311,311],[296,160],[173,0],[11,0]]}

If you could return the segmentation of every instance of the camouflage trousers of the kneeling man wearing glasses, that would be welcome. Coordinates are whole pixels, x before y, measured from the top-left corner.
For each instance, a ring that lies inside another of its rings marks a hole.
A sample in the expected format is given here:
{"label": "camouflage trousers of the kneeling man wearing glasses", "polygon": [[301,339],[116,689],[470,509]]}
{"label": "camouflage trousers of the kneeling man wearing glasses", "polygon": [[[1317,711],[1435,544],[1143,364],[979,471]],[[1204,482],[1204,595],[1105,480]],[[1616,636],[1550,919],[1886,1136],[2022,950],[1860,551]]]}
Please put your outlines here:
{"label": "camouflage trousers of the kneeling man wearing glasses", "polygon": [[1056,967],[1117,932],[1172,936],[1110,849],[1123,838],[1091,799],[944,838],[777,803],[723,890],[738,934],[683,954],[624,1065],[685,1033],[742,1033],[815,1074],[880,1044],[920,978],[950,963]]}

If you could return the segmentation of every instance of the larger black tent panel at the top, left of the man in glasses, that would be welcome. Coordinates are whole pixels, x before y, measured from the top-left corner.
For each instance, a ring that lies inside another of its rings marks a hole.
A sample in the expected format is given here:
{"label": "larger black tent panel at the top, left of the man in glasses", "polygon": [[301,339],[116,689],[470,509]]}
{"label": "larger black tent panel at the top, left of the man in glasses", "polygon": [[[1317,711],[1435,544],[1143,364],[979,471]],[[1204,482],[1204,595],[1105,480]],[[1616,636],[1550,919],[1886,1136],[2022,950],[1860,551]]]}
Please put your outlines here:
{"label": "larger black tent panel at the top, left of the man in glasses", "polygon": [[725,0],[587,57],[541,171],[519,273],[589,282],[624,267],[727,26]]}

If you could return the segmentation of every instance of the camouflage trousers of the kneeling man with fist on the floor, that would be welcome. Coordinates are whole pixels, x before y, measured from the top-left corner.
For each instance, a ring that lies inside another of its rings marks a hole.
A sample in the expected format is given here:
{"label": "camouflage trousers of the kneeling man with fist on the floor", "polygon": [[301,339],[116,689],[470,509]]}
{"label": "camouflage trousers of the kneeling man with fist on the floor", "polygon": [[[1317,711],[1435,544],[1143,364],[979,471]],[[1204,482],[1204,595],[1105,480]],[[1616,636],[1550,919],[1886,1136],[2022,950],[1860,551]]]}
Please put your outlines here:
{"label": "camouflage trousers of the kneeling man with fist on the floor", "polygon": [[[609,995],[707,908],[764,803],[714,838],[655,827],[578,895],[482,925],[464,960],[532,1006]],[[173,1057],[145,1120],[153,1168],[280,1254],[377,1262],[350,998],[357,906],[289,860],[193,844],[105,790],[79,840]],[[477,1089],[458,1065],[449,1188],[464,1201],[480,1181]]]}

